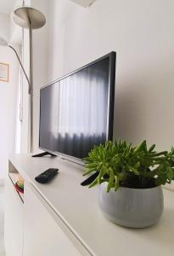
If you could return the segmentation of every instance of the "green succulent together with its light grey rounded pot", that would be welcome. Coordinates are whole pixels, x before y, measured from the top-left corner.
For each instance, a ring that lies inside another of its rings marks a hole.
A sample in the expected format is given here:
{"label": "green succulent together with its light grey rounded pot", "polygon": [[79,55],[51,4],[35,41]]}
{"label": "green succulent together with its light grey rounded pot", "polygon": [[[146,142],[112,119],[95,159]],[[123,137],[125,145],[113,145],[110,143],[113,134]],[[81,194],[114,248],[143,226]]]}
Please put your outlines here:
{"label": "green succulent together with its light grey rounded pot", "polygon": [[174,148],[156,152],[146,141],[138,147],[125,141],[95,146],[84,159],[86,172],[95,172],[89,188],[100,184],[99,206],[116,224],[143,228],[163,212],[161,185],[174,179]]}

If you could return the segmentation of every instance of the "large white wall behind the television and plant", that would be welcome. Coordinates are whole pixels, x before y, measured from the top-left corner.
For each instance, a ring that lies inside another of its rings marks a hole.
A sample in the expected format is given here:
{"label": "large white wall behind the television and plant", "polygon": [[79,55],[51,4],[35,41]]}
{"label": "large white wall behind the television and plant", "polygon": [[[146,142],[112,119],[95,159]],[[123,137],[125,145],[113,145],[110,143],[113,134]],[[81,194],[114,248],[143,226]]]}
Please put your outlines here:
{"label": "large white wall behind the television and plant", "polygon": [[174,2],[53,0],[49,80],[115,50],[115,137],[174,144]]}

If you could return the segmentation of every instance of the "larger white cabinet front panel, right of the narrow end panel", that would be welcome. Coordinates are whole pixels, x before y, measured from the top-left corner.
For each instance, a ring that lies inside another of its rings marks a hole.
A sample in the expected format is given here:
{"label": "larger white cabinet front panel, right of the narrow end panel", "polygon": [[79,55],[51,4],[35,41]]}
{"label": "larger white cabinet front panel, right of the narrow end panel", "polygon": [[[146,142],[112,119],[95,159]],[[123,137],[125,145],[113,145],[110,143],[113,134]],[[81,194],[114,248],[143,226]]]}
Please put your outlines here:
{"label": "larger white cabinet front panel, right of the narrow end panel", "polygon": [[42,204],[42,197],[25,183],[23,256],[81,256]]}

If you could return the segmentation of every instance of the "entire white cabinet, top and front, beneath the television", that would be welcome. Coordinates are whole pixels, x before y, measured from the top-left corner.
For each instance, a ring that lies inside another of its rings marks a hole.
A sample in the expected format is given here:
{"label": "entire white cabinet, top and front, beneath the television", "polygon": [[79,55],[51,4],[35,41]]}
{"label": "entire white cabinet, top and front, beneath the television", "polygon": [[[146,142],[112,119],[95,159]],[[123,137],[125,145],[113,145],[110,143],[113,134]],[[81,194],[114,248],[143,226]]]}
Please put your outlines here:
{"label": "entire white cabinet, top and front, beneath the television", "polygon": [[[112,224],[98,207],[98,189],[81,187],[81,168],[59,158],[15,154],[9,174],[25,179],[21,198],[8,178],[6,187],[6,256],[173,256],[173,192],[164,189],[165,211],[148,229]],[[35,177],[59,167],[51,183]],[[24,204],[22,203],[24,201]],[[125,242],[127,246],[125,246]]]}

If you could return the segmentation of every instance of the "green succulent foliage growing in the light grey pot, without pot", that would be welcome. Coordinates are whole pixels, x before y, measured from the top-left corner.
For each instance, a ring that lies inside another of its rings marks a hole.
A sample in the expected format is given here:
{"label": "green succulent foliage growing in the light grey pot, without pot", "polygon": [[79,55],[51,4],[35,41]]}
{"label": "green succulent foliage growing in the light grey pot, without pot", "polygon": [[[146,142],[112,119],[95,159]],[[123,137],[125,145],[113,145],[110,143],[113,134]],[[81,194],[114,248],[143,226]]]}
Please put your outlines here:
{"label": "green succulent foliage growing in the light grey pot, without pot", "polygon": [[89,188],[108,183],[107,192],[120,186],[147,189],[174,179],[174,148],[171,151],[154,151],[155,145],[147,147],[143,141],[138,147],[126,141],[108,141],[94,146],[84,159],[86,171],[83,175],[97,172]]}

